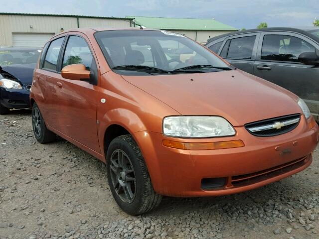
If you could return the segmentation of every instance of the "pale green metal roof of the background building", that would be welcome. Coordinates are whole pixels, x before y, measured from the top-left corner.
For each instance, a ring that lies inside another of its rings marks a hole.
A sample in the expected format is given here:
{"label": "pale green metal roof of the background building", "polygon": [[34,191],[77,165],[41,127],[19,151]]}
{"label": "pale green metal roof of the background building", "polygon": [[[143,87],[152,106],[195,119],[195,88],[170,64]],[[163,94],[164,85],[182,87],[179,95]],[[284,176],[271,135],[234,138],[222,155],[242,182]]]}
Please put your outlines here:
{"label": "pale green metal roof of the background building", "polygon": [[167,30],[238,30],[215,19],[170,18],[151,16],[127,16],[135,18],[136,23],[149,28]]}

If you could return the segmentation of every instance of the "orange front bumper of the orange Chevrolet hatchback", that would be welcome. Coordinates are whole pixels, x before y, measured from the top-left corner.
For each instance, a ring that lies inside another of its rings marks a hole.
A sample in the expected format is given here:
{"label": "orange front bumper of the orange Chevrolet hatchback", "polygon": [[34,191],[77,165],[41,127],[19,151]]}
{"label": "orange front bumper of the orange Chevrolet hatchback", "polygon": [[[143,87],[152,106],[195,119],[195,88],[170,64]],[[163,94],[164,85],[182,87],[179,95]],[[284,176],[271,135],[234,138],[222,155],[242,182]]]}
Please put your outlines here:
{"label": "orange front bumper of the orange Chevrolet hatchback", "polygon": [[[176,197],[220,196],[239,193],[298,173],[312,162],[312,152],[319,140],[318,125],[308,129],[302,117],[288,133],[272,137],[251,135],[236,127],[232,137],[176,139],[161,133],[141,131],[134,134],[155,191]],[[162,145],[163,139],[184,142],[209,142],[241,139],[245,146],[217,150],[183,150]],[[276,150],[277,148],[277,150]],[[203,188],[203,179],[225,179],[218,188]]]}

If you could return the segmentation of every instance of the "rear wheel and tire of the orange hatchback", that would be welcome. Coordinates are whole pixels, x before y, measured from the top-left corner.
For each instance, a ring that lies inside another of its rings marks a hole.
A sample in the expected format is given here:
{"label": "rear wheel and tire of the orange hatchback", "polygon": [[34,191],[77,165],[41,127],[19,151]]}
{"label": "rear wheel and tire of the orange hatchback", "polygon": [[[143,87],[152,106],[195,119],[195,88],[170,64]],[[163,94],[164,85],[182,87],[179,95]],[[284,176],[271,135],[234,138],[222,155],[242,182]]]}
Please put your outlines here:
{"label": "rear wheel and tire of the orange hatchback", "polygon": [[32,128],[34,137],[39,143],[50,143],[56,138],[56,134],[46,128],[44,119],[36,103],[32,106]]}

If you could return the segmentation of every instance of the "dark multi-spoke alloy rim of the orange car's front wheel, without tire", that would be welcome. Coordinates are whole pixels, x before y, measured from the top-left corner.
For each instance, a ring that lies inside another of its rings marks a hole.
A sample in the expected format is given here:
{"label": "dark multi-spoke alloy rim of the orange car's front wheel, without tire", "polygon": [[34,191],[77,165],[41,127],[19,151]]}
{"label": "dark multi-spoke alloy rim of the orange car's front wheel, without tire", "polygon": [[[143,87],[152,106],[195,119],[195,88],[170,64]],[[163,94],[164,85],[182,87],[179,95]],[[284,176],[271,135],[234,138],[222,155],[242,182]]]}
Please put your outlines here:
{"label": "dark multi-spoke alloy rim of the orange car's front wheel, without tire", "polygon": [[132,203],[136,195],[136,179],[129,156],[121,149],[116,149],[111,155],[110,176],[112,186],[125,203]]}

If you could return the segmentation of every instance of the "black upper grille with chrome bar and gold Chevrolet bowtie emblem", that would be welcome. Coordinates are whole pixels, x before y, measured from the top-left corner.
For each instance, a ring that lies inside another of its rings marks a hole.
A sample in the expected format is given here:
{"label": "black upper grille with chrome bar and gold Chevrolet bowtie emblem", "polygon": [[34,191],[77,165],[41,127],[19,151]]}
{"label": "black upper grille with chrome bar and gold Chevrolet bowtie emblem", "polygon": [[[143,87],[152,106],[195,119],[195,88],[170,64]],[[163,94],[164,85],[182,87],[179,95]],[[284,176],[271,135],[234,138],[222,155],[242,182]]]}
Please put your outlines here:
{"label": "black upper grille with chrome bar and gold Chevrolet bowtie emblem", "polygon": [[297,127],[299,121],[300,115],[296,114],[247,123],[245,128],[255,136],[268,137],[293,130]]}

